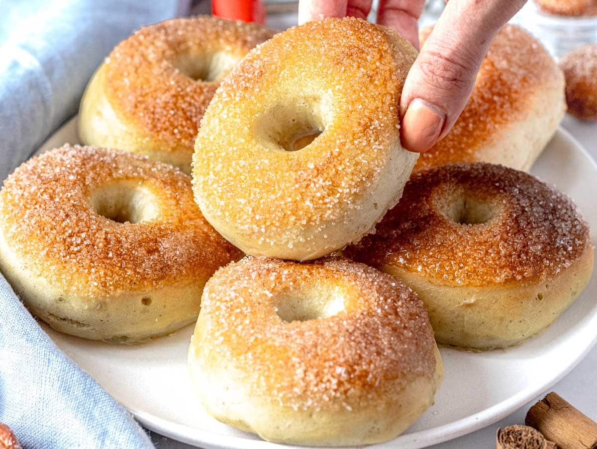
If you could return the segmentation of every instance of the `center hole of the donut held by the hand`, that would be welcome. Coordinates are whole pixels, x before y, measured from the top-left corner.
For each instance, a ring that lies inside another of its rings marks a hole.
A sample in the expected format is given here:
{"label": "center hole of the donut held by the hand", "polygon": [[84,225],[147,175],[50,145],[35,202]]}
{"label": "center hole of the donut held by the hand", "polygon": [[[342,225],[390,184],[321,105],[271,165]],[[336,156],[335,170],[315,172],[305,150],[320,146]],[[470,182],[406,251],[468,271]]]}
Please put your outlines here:
{"label": "center hole of the donut held by the hand", "polygon": [[303,97],[270,107],[254,125],[257,140],[273,150],[300,151],[325,131],[321,98]]}

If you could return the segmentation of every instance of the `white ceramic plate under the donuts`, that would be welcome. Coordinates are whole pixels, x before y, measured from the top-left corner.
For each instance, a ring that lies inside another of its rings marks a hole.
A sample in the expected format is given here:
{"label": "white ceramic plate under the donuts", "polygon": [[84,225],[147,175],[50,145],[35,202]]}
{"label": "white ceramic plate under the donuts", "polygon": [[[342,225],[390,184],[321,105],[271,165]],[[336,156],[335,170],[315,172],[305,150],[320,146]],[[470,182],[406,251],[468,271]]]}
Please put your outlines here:
{"label": "white ceramic plate under the donuts", "polygon": [[[75,120],[42,150],[76,143]],[[573,197],[597,241],[597,166],[560,129],[533,174]],[[404,435],[380,448],[415,449],[475,431],[512,413],[558,382],[597,340],[597,276],[583,295],[536,339],[506,351],[480,354],[442,348],[445,377],[429,408]],[[186,354],[193,326],[140,346],[91,342],[54,332],[54,342],[148,429],[203,448],[277,446],[208,416],[195,400]]]}

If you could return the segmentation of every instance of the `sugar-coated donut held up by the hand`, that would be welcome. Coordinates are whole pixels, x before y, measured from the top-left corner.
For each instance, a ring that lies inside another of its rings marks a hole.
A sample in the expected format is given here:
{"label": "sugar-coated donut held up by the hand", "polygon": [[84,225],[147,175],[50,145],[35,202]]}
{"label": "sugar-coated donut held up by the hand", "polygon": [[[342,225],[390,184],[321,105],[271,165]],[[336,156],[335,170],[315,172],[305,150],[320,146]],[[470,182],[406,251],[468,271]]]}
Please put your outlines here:
{"label": "sugar-coated donut held up by the hand", "polygon": [[251,51],[195,143],[205,218],[246,253],[283,259],[315,259],[368,233],[417,159],[401,147],[398,118],[416,54],[395,30],[353,17],[305,23]]}

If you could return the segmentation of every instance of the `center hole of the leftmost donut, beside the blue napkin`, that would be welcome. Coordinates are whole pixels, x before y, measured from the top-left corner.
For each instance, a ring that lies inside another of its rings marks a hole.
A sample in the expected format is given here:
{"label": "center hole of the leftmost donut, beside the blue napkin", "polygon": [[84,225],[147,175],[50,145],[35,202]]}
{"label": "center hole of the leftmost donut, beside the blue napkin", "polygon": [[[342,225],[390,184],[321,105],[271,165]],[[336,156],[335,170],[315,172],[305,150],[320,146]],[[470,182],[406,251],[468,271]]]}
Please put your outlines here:
{"label": "center hole of the leftmost donut, beside the blue napkin", "polygon": [[132,182],[113,182],[91,195],[91,208],[118,223],[137,224],[158,217],[156,198],[146,187]]}

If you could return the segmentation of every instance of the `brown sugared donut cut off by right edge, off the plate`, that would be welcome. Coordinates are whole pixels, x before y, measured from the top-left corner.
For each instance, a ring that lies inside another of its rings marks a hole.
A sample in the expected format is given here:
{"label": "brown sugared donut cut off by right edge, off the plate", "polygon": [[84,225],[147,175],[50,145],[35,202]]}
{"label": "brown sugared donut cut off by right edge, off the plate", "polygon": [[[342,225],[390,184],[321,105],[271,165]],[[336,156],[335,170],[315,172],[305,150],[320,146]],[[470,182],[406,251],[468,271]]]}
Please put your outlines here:
{"label": "brown sugared donut cut off by right edge, off the plate", "polygon": [[597,120],[597,44],[583,45],[562,58],[568,112],[584,120]]}

